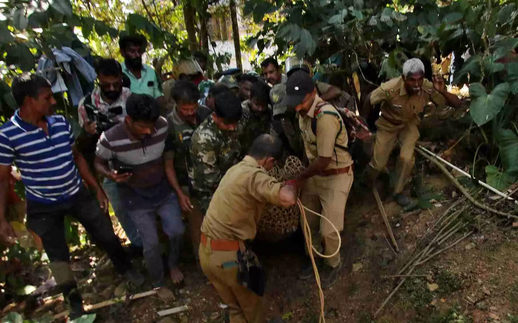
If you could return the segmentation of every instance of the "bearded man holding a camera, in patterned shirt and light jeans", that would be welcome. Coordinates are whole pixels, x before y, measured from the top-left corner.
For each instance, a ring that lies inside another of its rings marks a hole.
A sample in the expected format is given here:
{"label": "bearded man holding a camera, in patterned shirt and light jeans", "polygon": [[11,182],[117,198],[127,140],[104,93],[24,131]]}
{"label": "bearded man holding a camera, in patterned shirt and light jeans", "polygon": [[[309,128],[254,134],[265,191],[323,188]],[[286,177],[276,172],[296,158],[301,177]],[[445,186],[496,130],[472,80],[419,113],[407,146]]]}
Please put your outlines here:
{"label": "bearded man holding a camera, in patterned shirt and light jeans", "polygon": [[[124,121],[126,100],[131,95],[130,89],[122,85],[123,73],[119,62],[113,58],[103,58],[98,62],[95,71],[97,86],[79,102],[78,107],[79,124],[82,127],[78,146],[92,169],[100,134]],[[131,251],[140,254],[142,241],[133,221],[122,207],[117,183],[105,178],[103,189],[110,200],[113,212],[131,241]]]}

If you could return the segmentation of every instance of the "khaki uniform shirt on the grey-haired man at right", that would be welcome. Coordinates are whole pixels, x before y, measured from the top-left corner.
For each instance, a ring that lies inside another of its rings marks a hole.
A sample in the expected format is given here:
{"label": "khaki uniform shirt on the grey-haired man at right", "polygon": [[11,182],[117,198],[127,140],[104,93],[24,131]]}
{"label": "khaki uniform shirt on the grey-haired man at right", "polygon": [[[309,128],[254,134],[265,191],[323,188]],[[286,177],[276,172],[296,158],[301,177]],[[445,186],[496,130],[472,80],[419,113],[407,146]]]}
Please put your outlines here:
{"label": "khaki uniform shirt on the grey-haired man at right", "polygon": [[[424,112],[426,104],[432,101],[437,106],[446,105],[446,99],[434,89],[434,84],[424,80],[421,91],[410,95],[407,92],[403,78],[400,76],[382,83],[370,94],[370,104],[381,103],[381,118],[379,123],[391,127],[402,124],[421,122],[419,114]],[[378,124],[377,124],[378,125]]]}

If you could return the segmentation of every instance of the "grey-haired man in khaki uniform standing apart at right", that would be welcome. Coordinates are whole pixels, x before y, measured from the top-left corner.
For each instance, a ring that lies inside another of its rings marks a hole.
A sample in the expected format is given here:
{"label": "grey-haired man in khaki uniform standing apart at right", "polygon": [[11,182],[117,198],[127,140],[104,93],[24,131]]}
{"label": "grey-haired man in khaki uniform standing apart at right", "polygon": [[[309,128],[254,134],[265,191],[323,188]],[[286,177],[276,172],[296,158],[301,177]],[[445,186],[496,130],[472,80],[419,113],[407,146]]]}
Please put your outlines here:
{"label": "grey-haired man in khaki uniform standing apart at right", "polygon": [[418,126],[424,107],[429,101],[437,106],[461,107],[461,100],[446,90],[442,76],[434,76],[433,81],[424,79],[423,62],[412,58],[403,65],[402,76],[381,84],[369,94],[362,111],[364,117],[368,116],[372,106],[381,103],[374,152],[368,169],[371,179],[376,179],[385,168],[396,142],[400,143],[394,197],[402,207],[412,203],[402,192],[414,166],[415,142],[419,139]]}

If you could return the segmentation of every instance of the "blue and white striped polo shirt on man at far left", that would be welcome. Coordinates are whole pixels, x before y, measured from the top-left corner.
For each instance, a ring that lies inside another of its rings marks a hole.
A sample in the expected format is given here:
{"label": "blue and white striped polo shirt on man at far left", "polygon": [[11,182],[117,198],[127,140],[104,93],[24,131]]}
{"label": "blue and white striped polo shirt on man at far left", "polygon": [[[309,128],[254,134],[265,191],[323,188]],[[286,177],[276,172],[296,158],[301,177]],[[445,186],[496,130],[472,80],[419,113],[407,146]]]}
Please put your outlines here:
{"label": "blue and white striped polo shirt on man at far left", "polygon": [[0,165],[15,163],[27,199],[56,203],[76,194],[81,178],[72,154],[74,134],[70,124],[62,115],[46,119],[49,135],[23,121],[19,110],[0,126]]}

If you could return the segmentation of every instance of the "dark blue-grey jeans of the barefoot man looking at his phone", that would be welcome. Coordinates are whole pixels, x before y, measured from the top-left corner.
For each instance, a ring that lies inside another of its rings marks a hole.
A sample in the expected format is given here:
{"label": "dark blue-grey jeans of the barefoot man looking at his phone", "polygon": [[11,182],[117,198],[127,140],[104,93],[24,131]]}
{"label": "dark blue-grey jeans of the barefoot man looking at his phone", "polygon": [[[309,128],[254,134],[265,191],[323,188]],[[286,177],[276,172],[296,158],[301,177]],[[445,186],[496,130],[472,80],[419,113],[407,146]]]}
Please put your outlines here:
{"label": "dark blue-grey jeans of the barefoot man looking at his phone", "polygon": [[169,238],[169,268],[177,267],[184,230],[178,197],[171,192],[161,202],[150,202],[146,207],[128,211],[128,214],[133,219],[142,238],[144,259],[148,273],[153,280],[153,287],[162,287],[165,285],[164,266],[156,230],[156,215],[160,216],[162,229]]}

